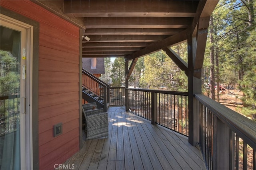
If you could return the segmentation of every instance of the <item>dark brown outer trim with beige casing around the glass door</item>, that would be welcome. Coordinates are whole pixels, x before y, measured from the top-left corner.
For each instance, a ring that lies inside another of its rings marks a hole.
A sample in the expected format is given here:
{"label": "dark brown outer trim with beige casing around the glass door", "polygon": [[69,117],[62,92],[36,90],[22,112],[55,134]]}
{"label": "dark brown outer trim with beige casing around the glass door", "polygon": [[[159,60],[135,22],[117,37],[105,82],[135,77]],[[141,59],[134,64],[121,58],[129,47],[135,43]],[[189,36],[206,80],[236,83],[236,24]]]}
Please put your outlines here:
{"label": "dark brown outer trim with beige casing around the glass door", "polygon": [[[1,19],[7,18],[12,22],[18,23],[18,25],[25,27],[27,33],[30,32],[30,36],[27,38],[30,40],[30,44],[27,44],[26,53],[30,54],[30,58],[26,60],[26,81],[28,90],[26,95],[30,98],[27,99],[26,105],[29,109],[29,115],[26,116],[26,168],[27,169],[39,169],[39,153],[38,153],[38,65],[39,65],[39,23],[22,16],[14,11],[0,7]],[[30,67],[28,67],[28,63]]]}

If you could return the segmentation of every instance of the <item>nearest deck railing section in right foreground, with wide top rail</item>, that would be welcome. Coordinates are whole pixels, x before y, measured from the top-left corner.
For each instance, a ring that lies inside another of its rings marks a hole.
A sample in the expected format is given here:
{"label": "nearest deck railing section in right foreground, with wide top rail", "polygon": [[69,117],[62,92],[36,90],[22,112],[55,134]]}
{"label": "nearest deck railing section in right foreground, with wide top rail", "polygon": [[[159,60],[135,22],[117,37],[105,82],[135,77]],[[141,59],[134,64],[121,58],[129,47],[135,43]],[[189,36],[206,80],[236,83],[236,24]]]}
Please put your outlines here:
{"label": "nearest deck railing section in right foreground, with wide top rail", "polygon": [[255,170],[256,123],[212,99],[196,94],[200,148],[208,170]]}

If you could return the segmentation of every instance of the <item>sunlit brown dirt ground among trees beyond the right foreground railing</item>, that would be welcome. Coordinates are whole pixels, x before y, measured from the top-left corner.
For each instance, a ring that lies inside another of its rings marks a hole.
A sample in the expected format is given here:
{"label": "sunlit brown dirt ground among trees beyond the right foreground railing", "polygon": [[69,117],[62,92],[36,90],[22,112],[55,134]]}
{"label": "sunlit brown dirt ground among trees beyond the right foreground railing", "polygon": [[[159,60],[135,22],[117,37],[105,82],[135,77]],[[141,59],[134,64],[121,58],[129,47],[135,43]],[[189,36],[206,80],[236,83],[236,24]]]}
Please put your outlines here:
{"label": "sunlit brown dirt ground among trees beyond the right foreground railing", "polygon": [[[208,93],[206,93],[206,95],[208,95]],[[226,90],[220,90],[220,103],[233,111],[241,113],[240,109],[243,107],[241,100],[242,95],[243,93],[238,90],[230,90],[229,93]],[[215,101],[217,101],[217,91],[215,91]]]}

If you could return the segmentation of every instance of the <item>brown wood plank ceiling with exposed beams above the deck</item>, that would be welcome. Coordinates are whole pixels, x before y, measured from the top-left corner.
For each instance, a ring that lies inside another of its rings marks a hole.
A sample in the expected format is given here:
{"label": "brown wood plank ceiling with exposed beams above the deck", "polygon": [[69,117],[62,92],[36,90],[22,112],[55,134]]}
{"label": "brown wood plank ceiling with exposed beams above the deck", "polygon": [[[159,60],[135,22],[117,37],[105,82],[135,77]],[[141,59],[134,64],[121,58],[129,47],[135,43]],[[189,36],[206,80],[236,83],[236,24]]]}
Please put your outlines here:
{"label": "brown wood plank ceiling with exposed beams above the deck", "polygon": [[63,4],[64,14],[84,18],[84,36],[90,40],[83,39],[83,57],[131,60],[186,41],[206,1],[64,0]]}

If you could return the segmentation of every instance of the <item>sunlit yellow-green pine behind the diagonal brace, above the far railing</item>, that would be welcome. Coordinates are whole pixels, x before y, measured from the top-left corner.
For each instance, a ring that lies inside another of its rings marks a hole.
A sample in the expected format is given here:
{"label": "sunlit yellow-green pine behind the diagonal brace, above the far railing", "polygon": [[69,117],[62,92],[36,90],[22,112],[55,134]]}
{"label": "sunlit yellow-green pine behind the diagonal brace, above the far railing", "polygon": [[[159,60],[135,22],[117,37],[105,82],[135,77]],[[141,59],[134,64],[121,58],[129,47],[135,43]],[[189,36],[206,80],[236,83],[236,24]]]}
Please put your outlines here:
{"label": "sunlit yellow-green pine behind the diagonal brace, above the far railing", "polygon": [[[172,49],[187,61],[186,43],[174,46]],[[163,51],[144,57],[144,64],[145,71],[142,78],[148,88],[188,91],[188,77]]]}

